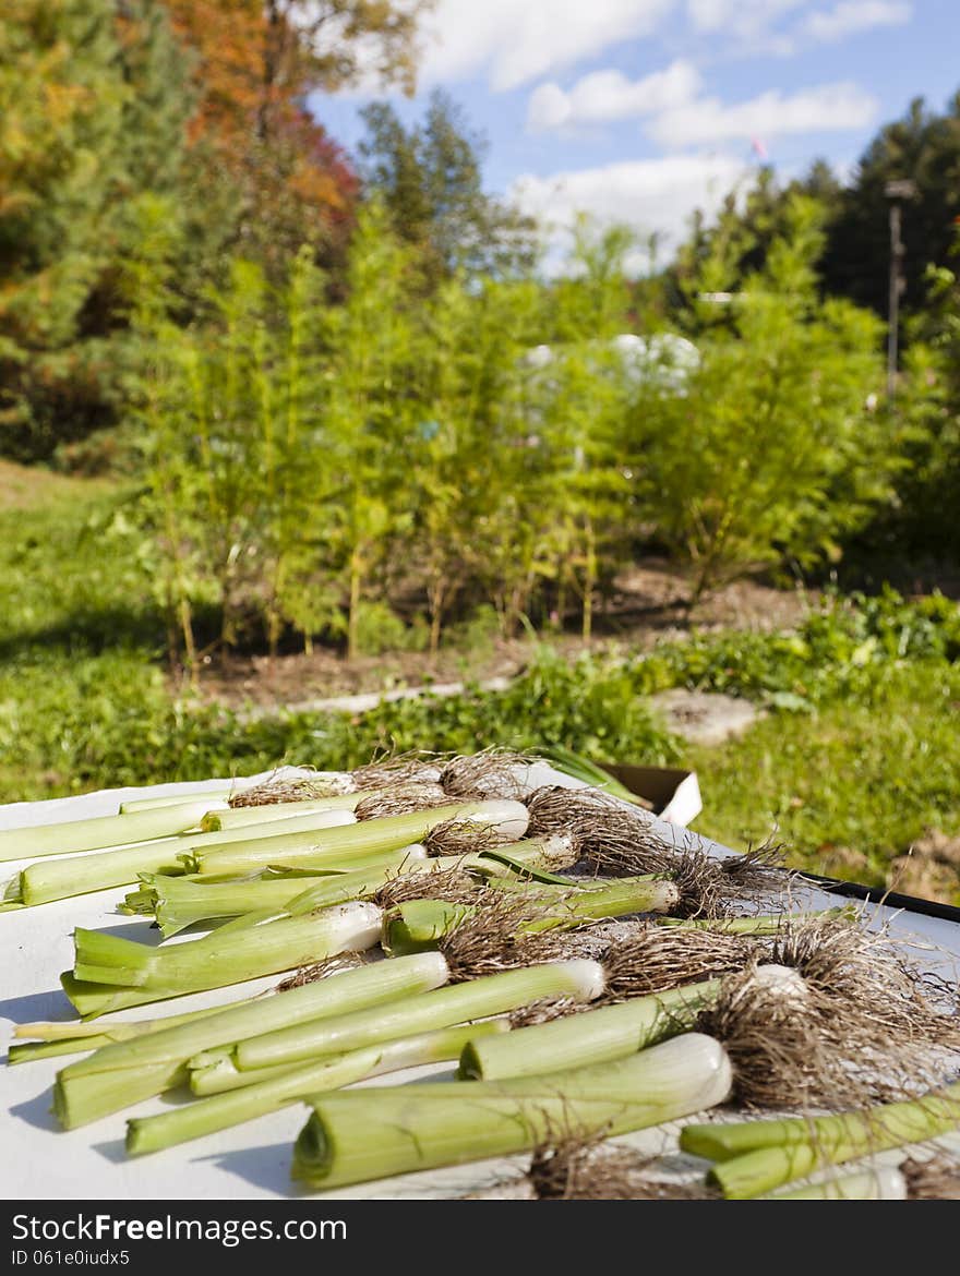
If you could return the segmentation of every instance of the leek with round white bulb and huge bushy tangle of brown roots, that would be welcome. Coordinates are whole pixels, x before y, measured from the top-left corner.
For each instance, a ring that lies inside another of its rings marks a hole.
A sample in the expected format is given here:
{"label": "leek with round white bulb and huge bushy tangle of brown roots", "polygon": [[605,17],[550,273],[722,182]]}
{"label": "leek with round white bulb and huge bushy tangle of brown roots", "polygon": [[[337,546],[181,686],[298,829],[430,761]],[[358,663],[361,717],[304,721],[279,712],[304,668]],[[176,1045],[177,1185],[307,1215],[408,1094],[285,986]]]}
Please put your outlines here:
{"label": "leek with round white bulb and huge bushy tangle of brown roots", "polygon": [[790,921],[766,960],[523,1027],[503,1042],[477,1041],[465,1049],[461,1074],[491,1081],[580,1067],[696,1030],[724,1042],[734,1092],[749,1105],[835,1106],[942,1074],[937,1050],[960,1045],[955,1017],[931,1002],[882,937],[831,917]]}

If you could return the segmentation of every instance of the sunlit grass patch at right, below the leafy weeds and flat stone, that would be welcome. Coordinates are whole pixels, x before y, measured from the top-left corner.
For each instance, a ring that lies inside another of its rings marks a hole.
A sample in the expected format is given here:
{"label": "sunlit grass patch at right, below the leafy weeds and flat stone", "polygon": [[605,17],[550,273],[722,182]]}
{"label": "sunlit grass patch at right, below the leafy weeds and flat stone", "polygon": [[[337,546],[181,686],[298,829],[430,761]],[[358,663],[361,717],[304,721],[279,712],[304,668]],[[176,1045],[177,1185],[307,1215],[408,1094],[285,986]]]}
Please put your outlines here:
{"label": "sunlit grass patch at right, below the leafy weeds and flat stone", "polygon": [[774,712],[686,760],[711,837],[737,846],[777,824],[794,864],[886,884],[927,829],[960,835],[960,670],[906,667],[869,699]]}

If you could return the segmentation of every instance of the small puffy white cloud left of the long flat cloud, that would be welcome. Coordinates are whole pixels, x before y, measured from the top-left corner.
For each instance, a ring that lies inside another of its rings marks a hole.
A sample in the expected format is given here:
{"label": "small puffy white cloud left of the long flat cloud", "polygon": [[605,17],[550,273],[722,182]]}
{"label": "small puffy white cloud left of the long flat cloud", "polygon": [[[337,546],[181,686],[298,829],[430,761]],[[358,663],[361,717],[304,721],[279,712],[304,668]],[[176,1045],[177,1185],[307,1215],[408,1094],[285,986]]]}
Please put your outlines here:
{"label": "small puffy white cloud left of the long flat cloud", "polygon": [[700,85],[700,71],[683,60],[638,80],[618,70],[591,71],[567,92],[553,82],[540,84],[530,97],[527,126],[541,131],[654,115],[689,102]]}

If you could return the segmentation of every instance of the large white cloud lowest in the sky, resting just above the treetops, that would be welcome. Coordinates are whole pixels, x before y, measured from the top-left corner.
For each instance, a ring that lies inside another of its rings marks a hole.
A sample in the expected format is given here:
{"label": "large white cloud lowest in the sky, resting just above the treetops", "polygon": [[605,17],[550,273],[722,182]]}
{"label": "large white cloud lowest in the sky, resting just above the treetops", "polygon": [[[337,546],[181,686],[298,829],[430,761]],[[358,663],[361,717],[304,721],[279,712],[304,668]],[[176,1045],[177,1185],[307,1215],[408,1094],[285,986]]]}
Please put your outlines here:
{"label": "large white cloud lowest in the sky, resting just above the treetops", "polygon": [[746,176],[747,167],[735,156],[666,156],[549,177],[527,175],[517,179],[511,195],[553,230],[554,245],[568,241],[577,213],[590,213],[601,223],[626,222],[643,235],[656,232],[664,256],[684,237],[694,209],[714,217]]}

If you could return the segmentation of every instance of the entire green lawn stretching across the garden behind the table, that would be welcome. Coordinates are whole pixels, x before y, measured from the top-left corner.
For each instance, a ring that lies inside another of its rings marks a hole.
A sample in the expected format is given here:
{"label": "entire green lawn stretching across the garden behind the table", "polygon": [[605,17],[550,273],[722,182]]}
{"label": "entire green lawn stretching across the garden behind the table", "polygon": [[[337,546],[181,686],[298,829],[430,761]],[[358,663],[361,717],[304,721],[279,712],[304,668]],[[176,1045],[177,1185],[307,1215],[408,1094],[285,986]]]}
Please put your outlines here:
{"label": "entire green lawn stretching across the garden behind the table", "polygon": [[[794,863],[871,883],[926,829],[960,835],[960,611],[946,600],[840,600],[795,634],[693,635],[645,656],[569,662],[544,647],[506,693],[241,721],[172,693],[126,500],[0,467],[0,803],[285,759],[351,766],[389,746],[563,743],[696,767],[703,832],[742,846],[776,823]],[[739,740],[688,746],[647,709],[671,685],[746,695],[766,716]],[[947,873],[938,893],[957,884]]]}

